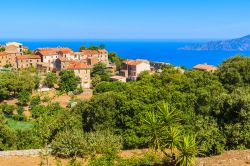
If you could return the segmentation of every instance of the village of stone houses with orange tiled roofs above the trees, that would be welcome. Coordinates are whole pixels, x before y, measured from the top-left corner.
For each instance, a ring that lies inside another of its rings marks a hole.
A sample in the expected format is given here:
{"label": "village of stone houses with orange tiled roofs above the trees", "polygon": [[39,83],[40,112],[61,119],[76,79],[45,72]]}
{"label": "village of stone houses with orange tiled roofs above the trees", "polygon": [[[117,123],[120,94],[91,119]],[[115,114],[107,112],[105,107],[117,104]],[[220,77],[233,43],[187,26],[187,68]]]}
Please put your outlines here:
{"label": "village of stone houses with orange tiled roofs above the trees", "polygon": [[[151,73],[161,72],[160,66],[166,63],[149,62],[144,59],[128,60],[122,59],[119,67],[110,60],[106,49],[93,46],[92,48],[82,47],[79,52],[71,48],[37,48],[30,51],[21,43],[9,42],[0,46],[0,71],[23,70],[36,68],[39,73],[54,72],[62,70],[73,70],[80,78],[80,86],[84,89],[92,87],[91,69],[98,63],[102,63],[111,72],[110,79],[113,81],[126,82],[136,80],[143,71]],[[181,72],[183,69],[177,68]],[[214,72],[216,67],[198,64],[194,67],[197,70]]]}

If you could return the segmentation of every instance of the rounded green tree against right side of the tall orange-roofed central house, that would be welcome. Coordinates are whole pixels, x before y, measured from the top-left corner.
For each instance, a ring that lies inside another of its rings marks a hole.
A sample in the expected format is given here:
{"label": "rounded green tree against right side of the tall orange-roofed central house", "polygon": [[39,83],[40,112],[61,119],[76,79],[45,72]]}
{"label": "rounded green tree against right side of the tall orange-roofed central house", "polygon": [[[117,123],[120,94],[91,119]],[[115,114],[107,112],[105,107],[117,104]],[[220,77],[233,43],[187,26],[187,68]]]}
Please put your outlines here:
{"label": "rounded green tree against right side of the tall orange-roofed central house", "polygon": [[97,63],[91,71],[91,76],[96,77],[97,75],[101,77],[102,81],[109,81],[111,72],[107,69],[106,64]]}

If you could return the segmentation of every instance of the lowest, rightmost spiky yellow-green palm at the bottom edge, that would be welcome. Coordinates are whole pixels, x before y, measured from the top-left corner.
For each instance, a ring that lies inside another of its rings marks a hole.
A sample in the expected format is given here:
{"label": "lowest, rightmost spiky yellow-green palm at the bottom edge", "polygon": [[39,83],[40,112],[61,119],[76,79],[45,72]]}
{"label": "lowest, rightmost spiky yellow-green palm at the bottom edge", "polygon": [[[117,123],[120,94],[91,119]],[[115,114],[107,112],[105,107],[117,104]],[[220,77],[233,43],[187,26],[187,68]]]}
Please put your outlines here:
{"label": "lowest, rightmost spiky yellow-green palm at the bottom edge", "polygon": [[180,151],[178,162],[181,166],[191,166],[199,149],[194,136],[186,135],[182,138],[178,149]]}

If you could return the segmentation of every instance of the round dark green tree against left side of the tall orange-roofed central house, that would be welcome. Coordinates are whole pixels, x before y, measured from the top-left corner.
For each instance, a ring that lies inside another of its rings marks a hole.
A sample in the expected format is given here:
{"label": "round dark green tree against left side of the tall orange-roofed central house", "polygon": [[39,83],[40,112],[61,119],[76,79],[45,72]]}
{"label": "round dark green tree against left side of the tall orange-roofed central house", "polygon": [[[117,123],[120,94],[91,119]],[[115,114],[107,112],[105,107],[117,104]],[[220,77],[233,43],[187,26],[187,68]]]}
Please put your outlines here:
{"label": "round dark green tree against left side of the tall orange-roofed central house", "polygon": [[77,86],[80,83],[80,78],[75,76],[74,71],[63,70],[60,72],[59,76],[59,88],[61,91],[70,92],[77,89]]}

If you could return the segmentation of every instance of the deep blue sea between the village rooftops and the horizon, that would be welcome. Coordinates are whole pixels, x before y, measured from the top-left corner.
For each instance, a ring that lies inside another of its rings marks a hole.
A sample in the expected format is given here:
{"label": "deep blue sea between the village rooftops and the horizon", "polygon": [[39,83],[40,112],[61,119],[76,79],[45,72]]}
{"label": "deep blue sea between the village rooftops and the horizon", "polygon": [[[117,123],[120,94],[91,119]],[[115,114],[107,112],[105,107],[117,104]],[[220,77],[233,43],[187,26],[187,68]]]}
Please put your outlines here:
{"label": "deep blue sea between the village rooftops and the horizon", "polygon": [[[0,43],[10,40],[0,40]],[[104,45],[106,49],[117,52],[119,56],[128,59],[148,59],[157,62],[167,62],[177,66],[192,68],[198,63],[219,65],[225,59],[236,54],[248,56],[250,51],[183,51],[178,48],[192,43],[204,42],[195,40],[11,40],[23,43],[31,50],[38,47],[70,47],[78,51],[82,45]]]}

